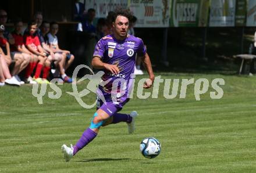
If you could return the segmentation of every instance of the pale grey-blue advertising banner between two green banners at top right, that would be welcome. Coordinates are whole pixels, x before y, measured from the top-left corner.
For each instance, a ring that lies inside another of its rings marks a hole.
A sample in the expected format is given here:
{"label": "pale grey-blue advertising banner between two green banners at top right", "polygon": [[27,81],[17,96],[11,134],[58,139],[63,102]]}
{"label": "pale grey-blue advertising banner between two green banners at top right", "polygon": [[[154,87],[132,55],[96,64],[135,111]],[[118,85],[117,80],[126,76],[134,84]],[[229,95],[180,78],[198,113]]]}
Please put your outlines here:
{"label": "pale grey-blue advertising banner between two green banners at top right", "polygon": [[236,10],[236,0],[211,1],[210,27],[233,27]]}

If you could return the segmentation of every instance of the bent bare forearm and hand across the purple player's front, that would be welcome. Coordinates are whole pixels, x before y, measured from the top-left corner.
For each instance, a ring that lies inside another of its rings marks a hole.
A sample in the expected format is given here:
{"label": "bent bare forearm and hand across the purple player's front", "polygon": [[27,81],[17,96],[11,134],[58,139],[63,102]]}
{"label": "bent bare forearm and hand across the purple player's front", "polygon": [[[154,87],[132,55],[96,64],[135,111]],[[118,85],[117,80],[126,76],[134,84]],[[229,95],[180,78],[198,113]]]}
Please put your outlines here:
{"label": "bent bare forearm and hand across the purple player's front", "polygon": [[107,64],[101,61],[101,59],[98,56],[94,56],[93,60],[91,61],[91,65],[95,69],[106,69],[111,71],[112,74],[118,74],[119,69],[118,66],[113,65],[113,64]]}

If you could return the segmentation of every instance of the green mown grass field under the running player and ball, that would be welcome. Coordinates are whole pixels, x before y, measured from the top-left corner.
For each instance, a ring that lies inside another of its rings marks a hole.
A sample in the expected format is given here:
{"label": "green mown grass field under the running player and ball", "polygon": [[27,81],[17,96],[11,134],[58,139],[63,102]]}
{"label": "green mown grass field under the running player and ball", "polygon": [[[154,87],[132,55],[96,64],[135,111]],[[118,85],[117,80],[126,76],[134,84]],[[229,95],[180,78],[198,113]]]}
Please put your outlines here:
{"label": "green mown grass field under the running player and ball", "polygon": [[[61,146],[76,143],[95,108],[83,109],[65,93],[72,91],[69,84],[61,86],[60,99],[46,95],[43,104],[31,94],[31,86],[0,88],[0,172],[255,172],[256,77],[156,75],[210,82],[223,78],[224,95],[211,99],[213,89],[209,89],[196,101],[194,85],[190,85],[186,99],[165,99],[161,85],[158,99],[134,98],[122,110],[140,114],[133,135],[127,134],[125,123],[101,128],[97,138],[69,163],[63,159]],[[80,91],[85,87],[85,82],[78,86]],[[93,103],[94,99],[91,93],[84,101]],[[148,136],[162,145],[161,154],[151,160],[139,150],[141,140]]]}

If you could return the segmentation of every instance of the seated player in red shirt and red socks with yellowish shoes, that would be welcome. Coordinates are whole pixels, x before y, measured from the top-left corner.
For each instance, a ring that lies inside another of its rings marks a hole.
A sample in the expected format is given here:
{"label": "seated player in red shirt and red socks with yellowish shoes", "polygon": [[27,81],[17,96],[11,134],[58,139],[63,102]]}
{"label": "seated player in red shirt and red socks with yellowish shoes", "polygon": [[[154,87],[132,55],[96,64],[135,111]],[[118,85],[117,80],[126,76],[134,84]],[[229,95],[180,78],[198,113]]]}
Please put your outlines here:
{"label": "seated player in red shirt and red socks with yellowish shoes", "polygon": [[[41,83],[47,83],[49,84],[49,81],[47,80],[49,70],[51,69],[51,60],[52,56],[47,55],[47,53],[44,52],[44,49],[42,48],[38,36],[35,34],[35,31],[37,31],[37,23],[35,21],[31,21],[28,24],[29,28],[29,34],[24,35],[24,43],[27,46],[27,49],[32,52],[33,54],[38,56],[38,64],[37,69],[35,70],[34,80],[41,84]],[[42,78],[40,78],[41,71]],[[33,72],[33,69],[30,69],[30,74]]]}

